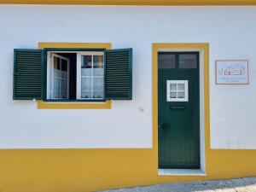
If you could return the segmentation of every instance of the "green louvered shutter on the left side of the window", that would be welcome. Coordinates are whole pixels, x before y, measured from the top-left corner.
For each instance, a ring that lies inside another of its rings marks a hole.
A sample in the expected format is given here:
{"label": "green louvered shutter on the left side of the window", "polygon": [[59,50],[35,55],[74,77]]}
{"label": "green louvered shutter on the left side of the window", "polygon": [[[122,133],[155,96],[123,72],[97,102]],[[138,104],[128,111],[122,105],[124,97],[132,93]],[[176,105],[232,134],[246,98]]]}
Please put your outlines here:
{"label": "green louvered shutter on the left side of the window", "polygon": [[15,49],[14,100],[42,98],[43,63],[43,50]]}

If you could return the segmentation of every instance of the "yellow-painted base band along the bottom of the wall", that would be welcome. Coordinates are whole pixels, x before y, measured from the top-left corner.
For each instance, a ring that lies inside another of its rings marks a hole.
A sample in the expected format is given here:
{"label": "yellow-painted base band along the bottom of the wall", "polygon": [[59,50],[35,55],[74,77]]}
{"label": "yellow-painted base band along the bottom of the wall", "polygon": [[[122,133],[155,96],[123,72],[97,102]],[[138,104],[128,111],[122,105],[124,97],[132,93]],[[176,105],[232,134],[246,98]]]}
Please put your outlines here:
{"label": "yellow-painted base band along the bottom of the wall", "polygon": [[0,150],[1,192],[95,191],[256,175],[255,150],[210,150],[206,177],[158,176],[155,149]]}

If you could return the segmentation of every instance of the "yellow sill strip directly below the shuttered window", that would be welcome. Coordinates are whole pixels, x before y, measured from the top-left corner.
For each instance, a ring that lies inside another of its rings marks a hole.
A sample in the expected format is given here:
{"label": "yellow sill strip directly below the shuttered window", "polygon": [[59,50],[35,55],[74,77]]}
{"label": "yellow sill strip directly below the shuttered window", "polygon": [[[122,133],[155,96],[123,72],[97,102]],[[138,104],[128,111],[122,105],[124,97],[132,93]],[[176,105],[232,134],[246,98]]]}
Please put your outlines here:
{"label": "yellow sill strip directly below the shuttered window", "polygon": [[111,109],[111,101],[106,102],[44,102],[38,101],[38,109]]}

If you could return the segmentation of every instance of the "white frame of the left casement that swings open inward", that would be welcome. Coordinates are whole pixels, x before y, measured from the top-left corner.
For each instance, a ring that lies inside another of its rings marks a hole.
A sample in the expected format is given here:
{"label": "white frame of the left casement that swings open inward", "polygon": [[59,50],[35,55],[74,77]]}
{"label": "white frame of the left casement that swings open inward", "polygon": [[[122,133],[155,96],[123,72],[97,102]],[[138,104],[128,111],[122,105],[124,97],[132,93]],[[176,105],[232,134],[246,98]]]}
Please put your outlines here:
{"label": "white frame of the left casement that swings open inward", "polygon": [[[53,89],[54,89],[54,57],[58,57],[61,60],[67,61],[67,82],[69,82],[69,65],[70,65],[70,60],[67,57],[57,55],[55,52],[49,53],[48,55],[48,61],[47,61],[47,99],[52,99],[52,100],[61,100],[62,98],[53,98]],[[61,64],[61,63],[60,63]],[[61,65],[60,65],[61,69]],[[60,78],[61,82],[61,78]],[[61,85],[60,85],[61,89]],[[61,91],[60,91],[61,94]],[[61,96],[61,95],[60,95]],[[69,99],[69,84],[67,83],[67,98]]]}

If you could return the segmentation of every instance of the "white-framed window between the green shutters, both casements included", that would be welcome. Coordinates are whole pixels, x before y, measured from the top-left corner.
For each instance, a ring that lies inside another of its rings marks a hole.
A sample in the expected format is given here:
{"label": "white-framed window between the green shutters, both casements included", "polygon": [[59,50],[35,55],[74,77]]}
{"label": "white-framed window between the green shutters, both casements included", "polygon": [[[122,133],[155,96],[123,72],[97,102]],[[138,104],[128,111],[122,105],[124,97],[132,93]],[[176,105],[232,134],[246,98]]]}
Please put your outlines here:
{"label": "white-framed window between the green shutters, both casements included", "polygon": [[104,100],[103,51],[49,51],[47,56],[47,99]]}

